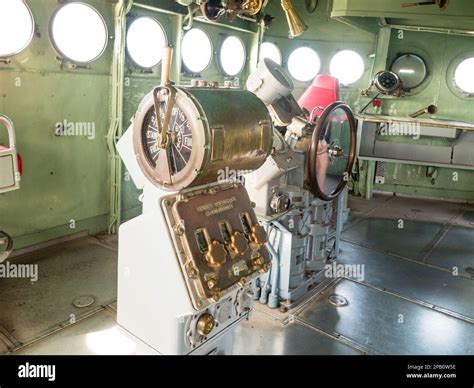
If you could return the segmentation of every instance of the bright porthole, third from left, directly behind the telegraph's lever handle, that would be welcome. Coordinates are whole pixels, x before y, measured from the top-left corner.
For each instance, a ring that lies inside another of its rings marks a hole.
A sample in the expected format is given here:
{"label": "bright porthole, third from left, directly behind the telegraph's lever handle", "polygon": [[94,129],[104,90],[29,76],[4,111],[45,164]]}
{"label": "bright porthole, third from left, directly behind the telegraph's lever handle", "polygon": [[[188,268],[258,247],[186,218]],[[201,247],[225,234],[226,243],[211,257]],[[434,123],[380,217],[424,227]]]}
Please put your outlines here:
{"label": "bright porthole, third from left, directly behind the telegraph's lever handle", "polygon": [[[153,44],[150,45],[150,39]],[[141,17],[132,22],[127,32],[128,54],[138,66],[151,68],[161,62],[166,35],[155,19]]]}

